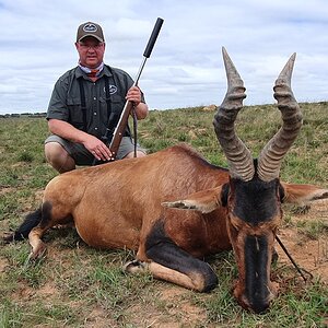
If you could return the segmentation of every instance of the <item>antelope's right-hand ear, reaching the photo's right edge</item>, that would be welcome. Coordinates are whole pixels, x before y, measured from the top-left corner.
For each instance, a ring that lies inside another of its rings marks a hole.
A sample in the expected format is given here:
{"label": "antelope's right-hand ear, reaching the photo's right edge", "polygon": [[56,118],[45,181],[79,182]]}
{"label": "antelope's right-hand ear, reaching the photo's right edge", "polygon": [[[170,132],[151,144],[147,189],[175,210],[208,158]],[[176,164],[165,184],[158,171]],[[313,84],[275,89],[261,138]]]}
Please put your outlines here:
{"label": "antelope's right-hand ear, reaching the photo's right edge", "polygon": [[283,200],[289,203],[306,206],[307,203],[328,198],[328,189],[314,185],[292,185],[280,183],[283,188]]}

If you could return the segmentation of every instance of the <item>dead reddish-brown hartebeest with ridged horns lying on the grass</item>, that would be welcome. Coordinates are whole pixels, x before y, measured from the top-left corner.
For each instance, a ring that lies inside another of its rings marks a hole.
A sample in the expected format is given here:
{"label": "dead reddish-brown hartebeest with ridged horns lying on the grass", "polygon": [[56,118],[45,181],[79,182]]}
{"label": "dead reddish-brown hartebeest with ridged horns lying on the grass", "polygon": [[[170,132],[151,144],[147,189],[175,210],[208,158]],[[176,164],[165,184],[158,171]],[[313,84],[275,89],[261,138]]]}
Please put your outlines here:
{"label": "dead reddish-brown hartebeest with ridged horns lying on the grass", "polygon": [[213,122],[229,169],[176,145],[65,173],[47,185],[40,209],[11,238],[28,235],[31,257],[38,258],[45,250],[43,234],[73,221],[91,246],[137,250],[128,271],[148,269],[155,278],[200,292],[213,289],[218,279],[199,258],[233,247],[238,267],[234,295],[245,308],[265,311],[276,294],[270,266],[281,203],[328,198],[328,190],[279,180],[281,161],[302,125],[290,86],[295,55],[274,86],[282,127],[255,161],[234,131],[246,96],[243,81],[225,49],[223,58],[229,86]]}

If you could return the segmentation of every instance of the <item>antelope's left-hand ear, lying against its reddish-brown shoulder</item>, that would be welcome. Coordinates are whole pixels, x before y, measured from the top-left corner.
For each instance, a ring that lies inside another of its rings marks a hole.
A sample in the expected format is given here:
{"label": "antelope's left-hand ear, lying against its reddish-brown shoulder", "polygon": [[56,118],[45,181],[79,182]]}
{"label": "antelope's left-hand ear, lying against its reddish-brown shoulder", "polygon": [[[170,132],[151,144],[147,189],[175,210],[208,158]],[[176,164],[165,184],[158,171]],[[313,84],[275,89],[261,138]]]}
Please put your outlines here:
{"label": "antelope's left-hand ear, lying against its reddish-brown shoulder", "polygon": [[190,194],[186,199],[164,201],[163,207],[183,210],[197,210],[210,213],[221,206],[222,186]]}

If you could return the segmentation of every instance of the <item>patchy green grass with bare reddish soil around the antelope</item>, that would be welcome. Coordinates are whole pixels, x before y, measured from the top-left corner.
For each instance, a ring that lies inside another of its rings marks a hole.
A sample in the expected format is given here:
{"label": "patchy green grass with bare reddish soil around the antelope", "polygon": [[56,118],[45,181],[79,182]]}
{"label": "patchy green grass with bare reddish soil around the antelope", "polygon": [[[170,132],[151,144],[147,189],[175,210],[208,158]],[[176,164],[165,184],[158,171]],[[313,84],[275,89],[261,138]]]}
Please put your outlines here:
{"label": "patchy green grass with bare reddish soil around the antelope", "polygon": [[[282,163],[285,181],[327,186],[328,103],[301,104],[304,126]],[[201,107],[153,110],[139,122],[139,141],[150,153],[187,142],[211,163],[226,165],[212,127],[213,113]],[[272,105],[245,107],[238,136],[257,156],[280,127]],[[56,172],[45,163],[47,137],[43,118],[0,119],[0,229],[14,229],[37,208],[42,190]],[[306,215],[305,215],[306,218]],[[304,243],[326,238],[321,219],[293,220],[285,210],[284,227],[297,231]],[[304,239],[305,238],[305,239]],[[99,251],[87,247],[74,230],[51,230],[47,257],[27,263],[27,243],[0,248],[0,327],[325,327],[327,283],[315,277],[303,283],[291,265],[272,271],[281,293],[269,312],[255,315],[232,296],[237,276],[232,253],[209,259],[220,285],[210,294],[195,293],[148,274],[129,276],[120,268],[133,259],[129,250]],[[326,257],[327,244],[326,244]]]}

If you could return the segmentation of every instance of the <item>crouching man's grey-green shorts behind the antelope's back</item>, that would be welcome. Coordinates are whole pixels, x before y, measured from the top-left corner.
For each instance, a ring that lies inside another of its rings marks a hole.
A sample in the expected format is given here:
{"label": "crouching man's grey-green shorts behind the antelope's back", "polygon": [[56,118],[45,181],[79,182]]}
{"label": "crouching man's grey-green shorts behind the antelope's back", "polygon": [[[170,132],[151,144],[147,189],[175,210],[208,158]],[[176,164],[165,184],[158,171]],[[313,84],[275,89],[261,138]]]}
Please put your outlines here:
{"label": "crouching man's grey-green shorts behind the antelope's back", "polygon": [[[69,155],[75,161],[77,165],[92,165],[93,163],[94,156],[81,143],[71,142],[56,134],[51,134],[45,140],[45,143],[48,142],[58,142],[61,144]],[[147,151],[140,148],[139,144],[137,144],[137,151],[147,153]],[[134,152],[133,139],[130,137],[122,137],[116,159],[121,160],[131,152]]]}

